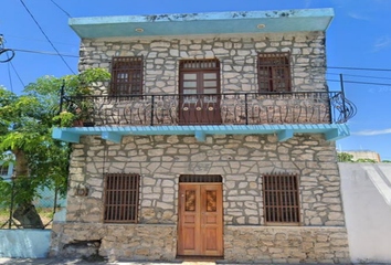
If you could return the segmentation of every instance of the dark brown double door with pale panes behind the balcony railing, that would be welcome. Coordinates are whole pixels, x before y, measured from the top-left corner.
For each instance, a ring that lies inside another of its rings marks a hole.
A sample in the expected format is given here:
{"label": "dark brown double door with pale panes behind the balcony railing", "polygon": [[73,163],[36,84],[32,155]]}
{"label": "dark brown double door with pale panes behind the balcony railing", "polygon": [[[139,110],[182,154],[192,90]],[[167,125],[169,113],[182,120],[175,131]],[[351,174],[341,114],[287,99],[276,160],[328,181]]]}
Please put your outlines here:
{"label": "dark brown double door with pale panes behind the balcony railing", "polygon": [[179,82],[179,124],[221,124],[219,60],[181,61]]}

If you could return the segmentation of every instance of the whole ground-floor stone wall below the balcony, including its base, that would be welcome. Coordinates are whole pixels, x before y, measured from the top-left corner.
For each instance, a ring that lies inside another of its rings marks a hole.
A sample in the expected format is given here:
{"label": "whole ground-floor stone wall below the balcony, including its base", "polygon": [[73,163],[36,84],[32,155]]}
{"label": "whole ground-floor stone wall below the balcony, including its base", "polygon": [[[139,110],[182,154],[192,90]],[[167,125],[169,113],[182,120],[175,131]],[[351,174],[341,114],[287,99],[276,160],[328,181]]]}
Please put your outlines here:
{"label": "whole ground-floor stone wall below the balcony, including its base", "polygon": [[[274,135],[208,136],[205,142],[197,142],[192,136],[126,136],[121,144],[112,144],[99,137],[89,136],[83,137],[81,144],[74,144],[73,148],[67,223],[62,227],[63,232],[54,235],[57,243],[54,243],[56,251],[53,253],[64,253],[66,248],[64,246],[70,242],[77,242],[84,239],[83,234],[91,234],[78,233],[80,231],[105,227],[104,231],[107,233],[98,233],[98,237],[103,239],[101,254],[112,256],[115,253],[114,256],[139,258],[140,256],[135,254],[136,248],[129,246],[128,252],[125,252],[127,247],[117,250],[117,245],[109,242],[133,242],[129,240],[133,232],[129,234],[128,230],[133,231],[138,225],[145,227],[147,224],[171,227],[171,232],[167,232],[171,233],[169,246],[176,250],[179,176],[221,174],[225,258],[229,261],[244,261],[242,255],[247,257],[246,261],[252,261],[255,256],[257,256],[256,261],[282,261],[282,253],[292,247],[295,250],[290,251],[296,254],[289,254],[289,258],[300,262],[326,259],[338,262],[349,255],[347,241],[344,244],[339,242],[341,244],[339,251],[344,254],[340,254],[341,256],[335,254],[337,246],[332,243],[332,236],[335,233],[339,236],[346,235],[346,230],[335,144],[326,141],[323,135],[295,135],[285,142],[278,142]],[[126,227],[126,232],[118,233],[118,236],[124,237],[120,240],[112,239],[108,233],[110,227],[116,226],[102,224],[104,172],[141,176],[140,224],[120,225],[120,229]],[[300,210],[304,226],[293,226],[288,230],[264,226],[261,176],[271,172],[290,172],[300,176]],[[80,187],[87,187],[89,195],[76,197],[75,189]],[[62,224],[56,225],[62,226]],[[251,229],[242,225],[251,225]],[[329,227],[340,229],[332,232],[334,230]],[[258,231],[258,235],[253,233],[254,230]],[[271,241],[274,233],[279,233],[273,231],[278,230],[288,231],[286,236],[289,239],[296,236],[292,241],[293,245],[286,245],[286,241],[276,241],[273,247],[267,250],[262,247],[266,246],[263,244],[267,244],[262,243],[265,241],[262,240],[263,236],[268,234],[265,239]],[[146,242],[155,241],[156,236],[159,241],[166,242],[166,235],[160,233],[157,235],[154,230],[146,231],[148,232],[141,233]],[[241,236],[233,236],[235,233]],[[324,235],[327,240],[318,241],[318,235],[320,237]],[[257,236],[255,240],[260,245],[257,253],[252,250],[254,247],[250,247],[252,246],[250,242],[253,240],[249,240],[249,236],[254,240]],[[235,243],[239,239],[243,239],[241,244]],[[243,246],[242,251],[237,250],[240,246]],[[249,255],[243,254],[244,250],[250,251]],[[305,250],[308,255],[303,253],[298,255]],[[167,252],[167,256],[160,257],[150,254],[148,258],[170,259],[172,252],[175,251]]]}

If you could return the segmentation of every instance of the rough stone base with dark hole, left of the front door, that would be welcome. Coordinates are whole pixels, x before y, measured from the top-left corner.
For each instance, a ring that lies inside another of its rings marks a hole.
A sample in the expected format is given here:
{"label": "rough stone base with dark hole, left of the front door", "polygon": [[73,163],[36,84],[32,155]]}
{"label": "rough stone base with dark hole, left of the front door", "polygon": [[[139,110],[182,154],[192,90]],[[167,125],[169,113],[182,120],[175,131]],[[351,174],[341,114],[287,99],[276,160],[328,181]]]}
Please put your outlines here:
{"label": "rough stone base with dark hole, left of the front door", "polygon": [[176,231],[175,225],[55,223],[50,255],[172,261],[177,255]]}

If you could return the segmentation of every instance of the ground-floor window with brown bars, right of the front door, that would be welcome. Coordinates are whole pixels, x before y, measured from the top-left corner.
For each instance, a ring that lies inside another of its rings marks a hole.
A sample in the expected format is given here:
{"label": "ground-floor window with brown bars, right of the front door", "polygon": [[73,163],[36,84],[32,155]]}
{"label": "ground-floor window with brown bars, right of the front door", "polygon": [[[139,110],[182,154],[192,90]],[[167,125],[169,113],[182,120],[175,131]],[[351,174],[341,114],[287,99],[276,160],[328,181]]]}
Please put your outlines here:
{"label": "ground-floor window with brown bars, right of the front door", "polygon": [[264,174],[263,201],[266,224],[300,223],[298,176]]}

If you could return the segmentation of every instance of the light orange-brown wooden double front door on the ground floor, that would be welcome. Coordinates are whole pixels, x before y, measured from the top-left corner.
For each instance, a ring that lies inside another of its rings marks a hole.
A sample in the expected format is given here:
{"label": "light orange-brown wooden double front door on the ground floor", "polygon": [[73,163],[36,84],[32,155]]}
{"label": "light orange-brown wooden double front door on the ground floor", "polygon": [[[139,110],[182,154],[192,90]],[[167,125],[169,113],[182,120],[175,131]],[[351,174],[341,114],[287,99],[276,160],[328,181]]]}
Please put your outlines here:
{"label": "light orange-brown wooden double front door on the ground floor", "polygon": [[179,256],[223,256],[221,183],[180,183]]}

